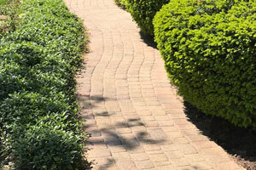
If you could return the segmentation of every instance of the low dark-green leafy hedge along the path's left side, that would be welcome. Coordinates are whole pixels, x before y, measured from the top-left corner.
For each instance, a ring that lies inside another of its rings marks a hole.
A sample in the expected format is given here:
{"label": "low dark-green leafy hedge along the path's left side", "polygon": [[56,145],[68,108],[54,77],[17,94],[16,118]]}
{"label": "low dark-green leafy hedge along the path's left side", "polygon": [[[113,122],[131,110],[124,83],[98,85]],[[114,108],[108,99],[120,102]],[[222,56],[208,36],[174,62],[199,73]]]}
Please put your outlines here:
{"label": "low dark-green leafy hedge along the path's left side", "polygon": [[87,41],[61,0],[24,0],[0,42],[0,159],[15,169],[87,169],[74,75]]}

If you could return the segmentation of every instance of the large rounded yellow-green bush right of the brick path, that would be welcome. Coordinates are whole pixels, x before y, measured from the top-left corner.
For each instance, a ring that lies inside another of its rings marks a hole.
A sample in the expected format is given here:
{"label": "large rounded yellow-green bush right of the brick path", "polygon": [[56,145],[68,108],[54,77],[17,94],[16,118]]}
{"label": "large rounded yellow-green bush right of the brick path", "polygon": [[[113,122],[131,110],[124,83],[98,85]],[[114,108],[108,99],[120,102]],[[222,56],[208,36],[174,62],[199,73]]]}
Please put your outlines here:
{"label": "large rounded yellow-green bush right of the brick path", "polygon": [[183,99],[239,127],[256,127],[256,3],[172,0],[155,41]]}

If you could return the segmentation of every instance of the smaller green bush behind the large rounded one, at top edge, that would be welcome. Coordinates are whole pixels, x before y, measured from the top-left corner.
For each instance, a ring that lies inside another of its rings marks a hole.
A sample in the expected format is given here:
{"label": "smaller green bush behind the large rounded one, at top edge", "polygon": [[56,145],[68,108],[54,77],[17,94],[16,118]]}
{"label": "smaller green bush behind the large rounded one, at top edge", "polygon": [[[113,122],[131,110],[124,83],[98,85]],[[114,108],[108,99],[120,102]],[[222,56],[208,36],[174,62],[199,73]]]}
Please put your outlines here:
{"label": "smaller green bush behind the large rounded one, at top edge", "polygon": [[170,0],[126,0],[126,6],[143,33],[154,36],[154,15],[169,2]]}

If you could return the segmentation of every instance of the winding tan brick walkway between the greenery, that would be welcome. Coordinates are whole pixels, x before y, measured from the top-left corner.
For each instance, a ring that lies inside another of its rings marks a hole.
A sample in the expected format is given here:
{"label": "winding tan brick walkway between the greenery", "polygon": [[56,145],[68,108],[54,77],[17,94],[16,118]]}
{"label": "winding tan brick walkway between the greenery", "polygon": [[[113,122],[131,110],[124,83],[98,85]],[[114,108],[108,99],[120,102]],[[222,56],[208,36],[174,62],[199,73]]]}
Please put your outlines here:
{"label": "winding tan brick walkway between the greenery", "polygon": [[113,0],[65,1],[90,33],[78,93],[93,169],[242,169],[187,120],[130,14]]}

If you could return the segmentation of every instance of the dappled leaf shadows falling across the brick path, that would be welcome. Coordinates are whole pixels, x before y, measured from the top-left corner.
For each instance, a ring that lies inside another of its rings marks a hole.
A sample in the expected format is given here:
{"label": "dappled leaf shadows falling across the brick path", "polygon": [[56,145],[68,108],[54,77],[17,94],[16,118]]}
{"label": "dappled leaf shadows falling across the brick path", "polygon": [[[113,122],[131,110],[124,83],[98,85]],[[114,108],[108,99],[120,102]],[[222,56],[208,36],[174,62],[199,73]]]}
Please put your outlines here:
{"label": "dappled leaf shadows falling across the brick path", "polygon": [[[98,105],[103,105],[103,102],[108,100],[116,99],[102,98],[101,96],[79,96],[81,108],[87,108],[88,111],[90,111],[94,107],[97,107]],[[106,120],[108,120],[108,118],[113,117],[114,120],[114,117],[116,116],[115,114],[115,112],[108,113],[108,111],[101,111],[100,109],[100,111],[97,112],[83,112],[83,115],[81,115],[85,119],[83,129],[86,133],[88,133],[89,136],[91,136],[91,138],[88,139],[87,144],[92,146],[92,150],[97,145],[102,147],[102,145],[107,144],[108,149],[114,150],[114,152],[132,152],[133,150],[144,150],[143,144],[163,144],[166,142],[165,138],[153,138],[147,132],[145,124],[137,116],[131,116],[131,118],[127,116],[126,119],[124,119],[123,121],[103,121],[102,124],[96,124],[95,119],[105,120],[106,118]],[[117,119],[118,118],[122,119],[124,117],[118,116]],[[93,161],[92,164],[97,166],[98,169],[108,169],[109,167],[112,167],[113,164],[115,164],[115,160],[112,158],[106,158],[106,160],[107,159],[108,162],[104,162],[104,165],[97,165],[96,161]]]}

